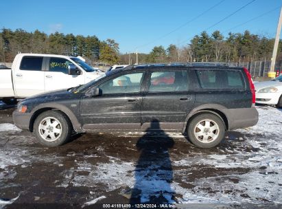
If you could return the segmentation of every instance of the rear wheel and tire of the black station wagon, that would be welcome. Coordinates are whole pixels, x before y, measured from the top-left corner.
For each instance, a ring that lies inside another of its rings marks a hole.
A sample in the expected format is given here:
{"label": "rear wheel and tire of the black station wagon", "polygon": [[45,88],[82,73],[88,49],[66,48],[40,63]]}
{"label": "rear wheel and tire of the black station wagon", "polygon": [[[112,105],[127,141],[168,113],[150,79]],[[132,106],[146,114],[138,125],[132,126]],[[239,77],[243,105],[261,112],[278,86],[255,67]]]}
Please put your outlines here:
{"label": "rear wheel and tire of the black station wagon", "polygon": [[200,148],[211,148],[222,141],[225,125],[221,118],[212,113],[201,113],[187,126],[189,140]]}

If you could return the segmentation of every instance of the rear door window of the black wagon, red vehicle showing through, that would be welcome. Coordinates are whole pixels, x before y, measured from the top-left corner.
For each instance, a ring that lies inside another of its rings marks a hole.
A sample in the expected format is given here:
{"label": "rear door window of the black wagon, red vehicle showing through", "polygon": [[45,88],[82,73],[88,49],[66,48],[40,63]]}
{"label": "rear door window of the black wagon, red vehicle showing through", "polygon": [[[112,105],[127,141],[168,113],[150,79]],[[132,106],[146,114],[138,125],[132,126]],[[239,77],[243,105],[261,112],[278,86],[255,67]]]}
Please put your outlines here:
{"label": "rear door window of the black wagon, red vehicle showing through", "polygon": [[152,72],[150,76],[150,92],[187,91],[187,71]]}

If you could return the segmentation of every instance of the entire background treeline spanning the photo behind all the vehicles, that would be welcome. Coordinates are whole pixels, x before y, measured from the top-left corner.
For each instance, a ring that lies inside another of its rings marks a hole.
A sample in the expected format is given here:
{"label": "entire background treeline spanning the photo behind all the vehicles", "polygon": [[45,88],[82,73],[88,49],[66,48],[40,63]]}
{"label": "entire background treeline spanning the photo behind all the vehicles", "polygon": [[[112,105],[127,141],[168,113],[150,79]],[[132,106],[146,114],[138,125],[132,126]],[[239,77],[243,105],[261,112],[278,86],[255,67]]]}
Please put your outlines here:
{"label": "entire background treeline spanning the photo behind all the vehicles", "polygon": [[[119,44],[113,39],[101,41],[97,36],[82,36],[55,32],[45,34],[38,30],[10,30],[0,32],[0,62],[12,62],[19,52],[64,54],[83,56],[91,63],[134,64],[135,53],[120,54]],[[212,34],[202,32],[183,47],[174,44],[165,49],[155,46],[149,54],[138,54],[138,63],[177,63],[177,62],[248,62],[269,61],[272,56],[274,39],[266,36],[244,33],[229,33],[224,37],[216,30]],[[282,59],[282,46],[279,44],[277,60]]]}

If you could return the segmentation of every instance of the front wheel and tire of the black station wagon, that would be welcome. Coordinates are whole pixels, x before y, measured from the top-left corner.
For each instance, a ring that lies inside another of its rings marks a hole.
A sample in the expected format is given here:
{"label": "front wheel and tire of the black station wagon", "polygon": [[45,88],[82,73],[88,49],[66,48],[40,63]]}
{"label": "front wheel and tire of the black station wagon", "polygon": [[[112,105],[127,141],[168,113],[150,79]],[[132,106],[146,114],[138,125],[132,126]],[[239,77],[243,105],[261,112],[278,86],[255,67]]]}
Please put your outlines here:
{"label": "front wheel and tire of the black station wagon", "polygon": [[71,137],[69,118],[61,111],[45,111],[34,121],[34,134],[43,146],[60,146]]}

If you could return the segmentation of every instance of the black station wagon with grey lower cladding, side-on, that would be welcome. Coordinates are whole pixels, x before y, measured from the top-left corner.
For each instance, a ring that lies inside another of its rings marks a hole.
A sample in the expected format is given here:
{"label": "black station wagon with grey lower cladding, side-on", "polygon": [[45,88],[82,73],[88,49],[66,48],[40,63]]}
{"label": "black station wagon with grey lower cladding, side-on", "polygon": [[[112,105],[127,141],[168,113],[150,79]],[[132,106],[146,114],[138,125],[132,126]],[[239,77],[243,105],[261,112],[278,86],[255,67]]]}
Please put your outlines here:
{"label": "black station wagon with grey lower cladding, side-on", "polygon": [[45,146],[64,144],[74,131],[162,130],[181,132],[194,145],[209,148],[225,131],[257,124],[254,106],[246,68],[131,65],[85,85],[26,98],[13,119]]}

